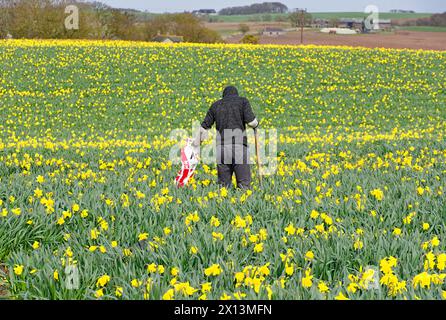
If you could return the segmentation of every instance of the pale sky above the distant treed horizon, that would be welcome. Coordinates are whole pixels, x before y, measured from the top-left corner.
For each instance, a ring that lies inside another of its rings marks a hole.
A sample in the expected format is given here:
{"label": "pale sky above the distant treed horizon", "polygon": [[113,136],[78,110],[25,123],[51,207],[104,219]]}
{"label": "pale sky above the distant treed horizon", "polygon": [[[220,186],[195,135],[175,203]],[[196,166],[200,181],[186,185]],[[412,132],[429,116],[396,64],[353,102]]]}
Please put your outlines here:
{"label": "pale sky above the distant treed horizon", "polygon": [[132,8],[150,12],[182,12],[195,9],[222,9],[252,3],[279,1],[288,8],[307,8],[309,12],[363,12],[368,5],[376,5],[381,12],[391,9],[416,12],[445,12],[445,0],[99,0],[116,8]]}

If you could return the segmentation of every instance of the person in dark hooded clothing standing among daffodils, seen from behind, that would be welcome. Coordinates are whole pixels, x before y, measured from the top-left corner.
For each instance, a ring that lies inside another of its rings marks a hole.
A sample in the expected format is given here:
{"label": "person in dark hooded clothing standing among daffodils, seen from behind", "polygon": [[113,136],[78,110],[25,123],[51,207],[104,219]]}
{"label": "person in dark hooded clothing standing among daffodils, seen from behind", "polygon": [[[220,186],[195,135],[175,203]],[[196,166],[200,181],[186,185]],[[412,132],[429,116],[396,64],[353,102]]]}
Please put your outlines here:
{"label": "person in dark hooded clothing standing among daffodils, seen from behind", "polygon": [[259,125],[249,100],[240,97],[237,88],[226,87],[223,98],[216,101],[201,124],[200,134],[194,140],[199,146],[207,137],[207,131],[216,125],[217,129],[217,171],[218,183],[230,187],[235,173],[237,188],[251,188],[246,126],[256,129]]}

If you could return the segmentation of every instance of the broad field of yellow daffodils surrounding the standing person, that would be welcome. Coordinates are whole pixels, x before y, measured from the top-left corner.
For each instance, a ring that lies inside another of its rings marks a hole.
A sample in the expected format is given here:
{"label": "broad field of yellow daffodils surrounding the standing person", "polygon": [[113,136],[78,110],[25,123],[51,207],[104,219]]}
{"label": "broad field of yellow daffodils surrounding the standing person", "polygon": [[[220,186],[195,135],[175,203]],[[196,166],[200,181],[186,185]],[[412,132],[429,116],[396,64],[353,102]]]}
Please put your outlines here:
{"label": "broad field of yellow daffodils surrounding the standing person", "polygon": [[[3,295],[446,298],[445,52],[14,40],[0,67]],[[177,189],[169,134],[228,84],[277,171]]]}

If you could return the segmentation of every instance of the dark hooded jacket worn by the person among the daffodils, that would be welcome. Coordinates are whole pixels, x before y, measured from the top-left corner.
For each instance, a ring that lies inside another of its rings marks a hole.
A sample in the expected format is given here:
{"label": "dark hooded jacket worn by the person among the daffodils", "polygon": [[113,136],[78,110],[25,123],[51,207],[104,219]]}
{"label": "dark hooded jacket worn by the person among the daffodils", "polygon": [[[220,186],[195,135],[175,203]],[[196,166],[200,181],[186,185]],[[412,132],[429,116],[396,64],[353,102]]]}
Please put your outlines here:
{"label": "dark hooded jacket worn by the person among the daffodils", "polygon": [[[239,129],[244,133],[246,124],[254,121],[255,118],[248,99],[240,97],[237,88],[229,86],[223,91],[223,98],[211,106],[201,126],[209,130],[215,123],[219,133],[217,144],[223,144],[226,129]],[[231,140],[233,143],[238,141]],[[246,137],[243,139],[243,144],[247,145]]]}

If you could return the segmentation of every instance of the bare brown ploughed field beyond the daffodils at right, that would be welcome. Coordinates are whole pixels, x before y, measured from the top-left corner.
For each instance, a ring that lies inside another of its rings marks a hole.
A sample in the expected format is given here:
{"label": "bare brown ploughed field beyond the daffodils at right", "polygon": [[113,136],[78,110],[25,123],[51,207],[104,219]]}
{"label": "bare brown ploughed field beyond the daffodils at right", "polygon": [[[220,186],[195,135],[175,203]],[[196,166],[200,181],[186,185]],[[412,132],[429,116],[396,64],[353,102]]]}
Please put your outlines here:
{"label": "bare brown ploughed field beyond the daffodils at right", "polygon": [[[238,43],[241,36],[227,38]],[[261,44],[300,44],[300,33],[290,32],[280,37],[260,36]],[[446,50],[446,32],[399,31],[388,34],[329,35],[305,31],[304,44],[337,45],[368,48]]]}

